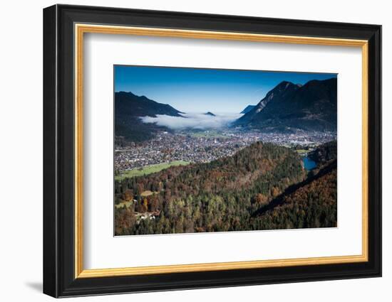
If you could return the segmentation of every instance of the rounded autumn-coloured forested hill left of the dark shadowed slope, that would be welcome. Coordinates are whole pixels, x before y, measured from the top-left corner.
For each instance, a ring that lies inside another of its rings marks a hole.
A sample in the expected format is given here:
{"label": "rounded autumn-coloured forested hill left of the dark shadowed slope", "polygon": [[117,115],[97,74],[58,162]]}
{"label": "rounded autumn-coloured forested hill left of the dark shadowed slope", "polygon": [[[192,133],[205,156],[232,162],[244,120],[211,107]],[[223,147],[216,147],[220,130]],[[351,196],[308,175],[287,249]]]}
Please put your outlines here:
{"label": "rounded autumn-coloured forested hill left of the dark shadowed slope", "polygon": [[[305,175],[295,151],[256,143],[210,163],[125,179],[115,183],[116,199],[120,202],[128,194],[138,201],[116,211],[116,233],[249,230],[254,211]],[[143,198],[145,191],[155,194]],[[135,212],[156,211],[160,215],[155,220],[133,223],[133,227],[127,224]]]}

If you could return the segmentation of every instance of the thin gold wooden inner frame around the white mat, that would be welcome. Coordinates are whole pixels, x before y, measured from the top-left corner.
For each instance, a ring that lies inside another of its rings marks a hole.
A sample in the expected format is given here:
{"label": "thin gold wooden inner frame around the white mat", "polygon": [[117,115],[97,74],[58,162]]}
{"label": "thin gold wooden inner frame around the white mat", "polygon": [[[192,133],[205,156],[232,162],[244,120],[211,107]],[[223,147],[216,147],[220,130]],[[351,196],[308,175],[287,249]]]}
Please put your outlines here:
{"label": "thin gold wooden inner frame around the white mat", "polygon": [[[344,264],[368,261],[368,41],[340,38],[279,36],[255,33],[190,31],[167,28],[105,26],[76,23],[75,33],[75,278],[168,274],[191,271],[221,271],[278,266]],[[362,254],[353,256],[311,257],[257,261],[232,261],[204,264],[137,266],[117,269],[83,269],[83,34],[106,33],[135,36],[163,36],[267,43],[333,45],[362,50]]]}

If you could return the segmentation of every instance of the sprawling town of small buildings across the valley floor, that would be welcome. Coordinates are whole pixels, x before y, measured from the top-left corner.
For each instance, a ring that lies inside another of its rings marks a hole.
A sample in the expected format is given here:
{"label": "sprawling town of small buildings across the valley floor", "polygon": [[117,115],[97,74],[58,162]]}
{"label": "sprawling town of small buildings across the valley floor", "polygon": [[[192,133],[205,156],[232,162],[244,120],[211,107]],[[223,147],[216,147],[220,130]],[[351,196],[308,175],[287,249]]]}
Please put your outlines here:
{"label": "sprawling town of small buildings across the valley floor", "polygon": [[219,134],[202,131],[195,134],[160,132],[154,139],[137,146],[115,148],[115,170],[126,171],[157,163],[214,161],[232,156],[256,141],[272,142],[281,146],[314,146],[336,139],[333,132],[299,134],[266,134],[260,131],[226,130]]}

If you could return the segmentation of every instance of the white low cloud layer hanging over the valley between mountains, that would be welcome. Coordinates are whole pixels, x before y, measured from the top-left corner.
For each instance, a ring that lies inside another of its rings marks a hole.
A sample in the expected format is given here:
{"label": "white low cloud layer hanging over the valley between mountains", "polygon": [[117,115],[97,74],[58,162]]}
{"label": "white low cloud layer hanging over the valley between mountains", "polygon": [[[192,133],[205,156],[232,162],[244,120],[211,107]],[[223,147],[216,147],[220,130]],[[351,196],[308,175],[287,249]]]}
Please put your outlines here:
{"label": "white low cloud layer hanging over the valley between mountains", "polygon": [[185,113],[182,117],[170,117],[169,115],[157,114],[157,117],[140,117],[144,123],[155,123],[158,126],[167,126],[173,130],[182,129],[220,129],[234,122],[242,114],[215,114]]}

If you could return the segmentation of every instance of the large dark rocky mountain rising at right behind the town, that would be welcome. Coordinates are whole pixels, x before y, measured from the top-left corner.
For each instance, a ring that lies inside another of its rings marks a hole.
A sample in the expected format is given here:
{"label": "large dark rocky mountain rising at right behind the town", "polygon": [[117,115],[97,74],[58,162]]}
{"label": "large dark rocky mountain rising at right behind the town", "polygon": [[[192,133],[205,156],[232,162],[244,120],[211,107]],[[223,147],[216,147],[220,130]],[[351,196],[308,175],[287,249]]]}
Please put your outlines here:
{"label": "large dark rocky mountain rising at right behind the town", "polygon": [[305,85],[281,82],[253,109],[234,122],[267,131],[336,131],[337,80],[311,80]]}

